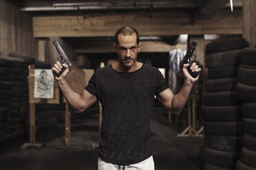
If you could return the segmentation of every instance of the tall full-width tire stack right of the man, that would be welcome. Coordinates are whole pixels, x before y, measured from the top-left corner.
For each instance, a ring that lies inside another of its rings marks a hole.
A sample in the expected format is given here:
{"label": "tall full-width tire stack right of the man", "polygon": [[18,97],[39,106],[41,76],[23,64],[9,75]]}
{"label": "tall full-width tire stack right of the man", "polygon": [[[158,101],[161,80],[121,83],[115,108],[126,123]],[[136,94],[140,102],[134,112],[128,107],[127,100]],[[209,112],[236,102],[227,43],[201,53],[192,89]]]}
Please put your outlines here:
{"label": "tall full-width tire stack right of the man", "polygon": [[242,62],[243,38],[223,38],[206,45],[204,120],[204,169],[235,169],[242,149],[242,100],[235,87]]}

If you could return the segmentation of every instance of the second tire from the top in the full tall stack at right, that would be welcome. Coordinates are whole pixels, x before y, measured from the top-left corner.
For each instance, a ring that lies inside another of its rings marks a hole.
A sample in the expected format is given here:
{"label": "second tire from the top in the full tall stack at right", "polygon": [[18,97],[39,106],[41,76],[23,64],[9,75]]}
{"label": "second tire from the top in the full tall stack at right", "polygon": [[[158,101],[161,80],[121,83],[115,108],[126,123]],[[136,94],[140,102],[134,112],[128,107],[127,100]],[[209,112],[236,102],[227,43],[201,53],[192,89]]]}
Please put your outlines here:
{"label": "second tire from the top in the full tall stack at right", "polygon": [[211,53],[205,57],[205,62],[208,68],[239,65],[242,63],[242,49]]}

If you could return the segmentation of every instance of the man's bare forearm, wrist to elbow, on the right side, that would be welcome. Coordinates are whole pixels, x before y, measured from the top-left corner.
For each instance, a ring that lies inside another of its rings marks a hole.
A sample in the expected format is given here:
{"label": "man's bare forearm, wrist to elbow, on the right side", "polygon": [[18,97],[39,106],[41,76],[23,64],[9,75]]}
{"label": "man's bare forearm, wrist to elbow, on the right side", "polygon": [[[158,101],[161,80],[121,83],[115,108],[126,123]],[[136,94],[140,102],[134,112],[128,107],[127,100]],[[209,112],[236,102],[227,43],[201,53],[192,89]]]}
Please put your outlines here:
{"label": "man's bare forearm, wrist to elbow, on the right side", "polygon": [[189,98],[192,86],[193,84],[184,82],[180,92],[177,95],[174,95],[173,99],[171,100],[170,112],[173,114],[179,114],[181,112]]}

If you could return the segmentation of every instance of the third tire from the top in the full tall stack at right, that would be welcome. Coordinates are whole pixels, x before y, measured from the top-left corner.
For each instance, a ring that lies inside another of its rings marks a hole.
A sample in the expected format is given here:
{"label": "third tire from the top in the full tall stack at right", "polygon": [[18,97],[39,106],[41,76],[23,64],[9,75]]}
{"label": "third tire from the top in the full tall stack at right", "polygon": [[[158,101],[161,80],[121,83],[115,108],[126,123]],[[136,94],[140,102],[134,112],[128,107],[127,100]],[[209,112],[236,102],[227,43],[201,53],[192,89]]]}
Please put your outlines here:
{"label": "third tire from the top in the full tall stack at right", "polygon": [[213,69],[208,69],[209,79],[224,79],[228,77],[237,77],[239,65],[222,66]]}

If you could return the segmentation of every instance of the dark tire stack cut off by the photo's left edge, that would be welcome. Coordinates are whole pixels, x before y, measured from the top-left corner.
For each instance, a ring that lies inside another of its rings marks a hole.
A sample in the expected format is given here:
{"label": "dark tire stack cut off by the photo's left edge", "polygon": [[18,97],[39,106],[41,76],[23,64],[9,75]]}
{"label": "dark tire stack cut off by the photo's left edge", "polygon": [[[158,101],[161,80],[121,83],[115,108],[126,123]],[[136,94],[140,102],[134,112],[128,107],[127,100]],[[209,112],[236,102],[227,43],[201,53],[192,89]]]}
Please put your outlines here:
{"label": "dark tire stack cut off by the photo's left edge", "polygon": [[10,95],[12,90],[13,62],[0,56],[0,143],[6,141],[6,120],[10,106]]}

